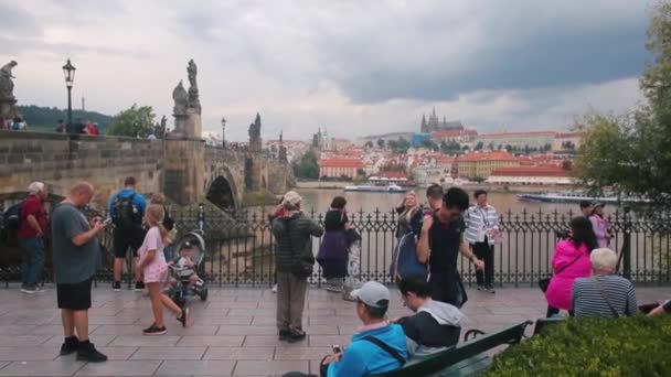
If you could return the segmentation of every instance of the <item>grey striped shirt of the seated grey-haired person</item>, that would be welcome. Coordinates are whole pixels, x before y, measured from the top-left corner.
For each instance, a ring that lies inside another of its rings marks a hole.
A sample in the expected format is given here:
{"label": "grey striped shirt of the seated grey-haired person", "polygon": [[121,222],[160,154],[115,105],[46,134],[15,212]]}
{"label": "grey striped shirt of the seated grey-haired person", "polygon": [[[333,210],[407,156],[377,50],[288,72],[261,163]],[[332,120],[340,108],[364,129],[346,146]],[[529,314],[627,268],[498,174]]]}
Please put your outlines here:
{"label": "grey striped shirt of the seated grey-haired person", "polygon": [[573,283],[571,302],[574,315],[615,316],[601,295],[598,279],[608,302],[619,315],[633,315],[638,310],[636,291],[631,281],[616,274],[595,274],[594,278],[578,278]]}

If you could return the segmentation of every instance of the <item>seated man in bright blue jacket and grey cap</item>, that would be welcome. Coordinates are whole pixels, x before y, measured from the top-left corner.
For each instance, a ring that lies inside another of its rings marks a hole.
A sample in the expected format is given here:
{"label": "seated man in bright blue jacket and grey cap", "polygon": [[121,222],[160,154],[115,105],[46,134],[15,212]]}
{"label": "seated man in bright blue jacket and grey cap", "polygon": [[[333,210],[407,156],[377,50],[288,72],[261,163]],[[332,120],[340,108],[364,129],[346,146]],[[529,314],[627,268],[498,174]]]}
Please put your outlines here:
{"label": "seated man in bright blue jacket and grey cap", "polygon": [[363,326],[352,335],[344,352],[323,359],[322,375],[326,371],[328,377],[359,377],[401,368],[408,357],[405,333],[400,325],[384,320],[388,289],[369,281],[351,294],[356,299],[356,314]]}

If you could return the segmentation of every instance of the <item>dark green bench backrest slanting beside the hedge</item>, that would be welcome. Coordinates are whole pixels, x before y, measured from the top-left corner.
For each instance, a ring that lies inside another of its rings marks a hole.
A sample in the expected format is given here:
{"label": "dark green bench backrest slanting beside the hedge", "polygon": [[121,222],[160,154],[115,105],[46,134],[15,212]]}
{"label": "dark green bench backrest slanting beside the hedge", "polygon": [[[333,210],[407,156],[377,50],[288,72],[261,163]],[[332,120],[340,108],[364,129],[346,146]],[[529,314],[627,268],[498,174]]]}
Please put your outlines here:
{"label": "dark green bench backrest slanting beside the hedge", "polygon": [[524,335],[524,330],[530,323],[531,322],[525,321],[498,332],[488,333],[465,342],[454,348],[424,357],[413,358],[401,369],[369,375],[369,377],[417,377],[440,371],[450,365],[479,355],[497,346],[520,343]]}

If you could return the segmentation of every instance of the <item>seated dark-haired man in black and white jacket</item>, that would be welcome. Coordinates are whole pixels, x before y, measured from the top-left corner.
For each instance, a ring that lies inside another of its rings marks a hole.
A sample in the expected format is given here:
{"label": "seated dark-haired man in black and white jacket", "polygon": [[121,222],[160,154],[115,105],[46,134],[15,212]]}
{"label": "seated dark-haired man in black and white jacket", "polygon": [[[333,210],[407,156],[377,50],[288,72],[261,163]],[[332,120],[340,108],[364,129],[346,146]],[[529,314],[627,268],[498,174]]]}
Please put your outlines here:
{"label": "seated dark-haired man in black and white jacket", "polygon": [[396,321],[405,332],[411,357],[445,351],[459,342],[464,314],[445,302],[432,300],[432,286],[419,276],[398,282],[403,303],[415,315]]}

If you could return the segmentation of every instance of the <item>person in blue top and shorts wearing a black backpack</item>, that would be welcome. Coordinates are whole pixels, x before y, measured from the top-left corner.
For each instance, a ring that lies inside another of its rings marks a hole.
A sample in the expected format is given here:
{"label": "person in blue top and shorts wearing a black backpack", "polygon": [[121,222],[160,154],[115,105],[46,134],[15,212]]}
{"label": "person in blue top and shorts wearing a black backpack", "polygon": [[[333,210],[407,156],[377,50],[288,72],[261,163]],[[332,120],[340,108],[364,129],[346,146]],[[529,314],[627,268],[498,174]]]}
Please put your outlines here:
{"label": "person in blue top and shorts wearing a black backpack", "polygon": [[145,197],[137,191],[137,181],[129,176],[124,182],[124,190],[119,191],[109,201],[109,215],[114,222],[114,282],[113,289],[121,290],[121,271],[124,260],[130,249],[132,252],[132,273],[135,276],[135,290],[140,292],[145,283],[138,269],[138,248],[145,239],[142,217],[147,208]]}

